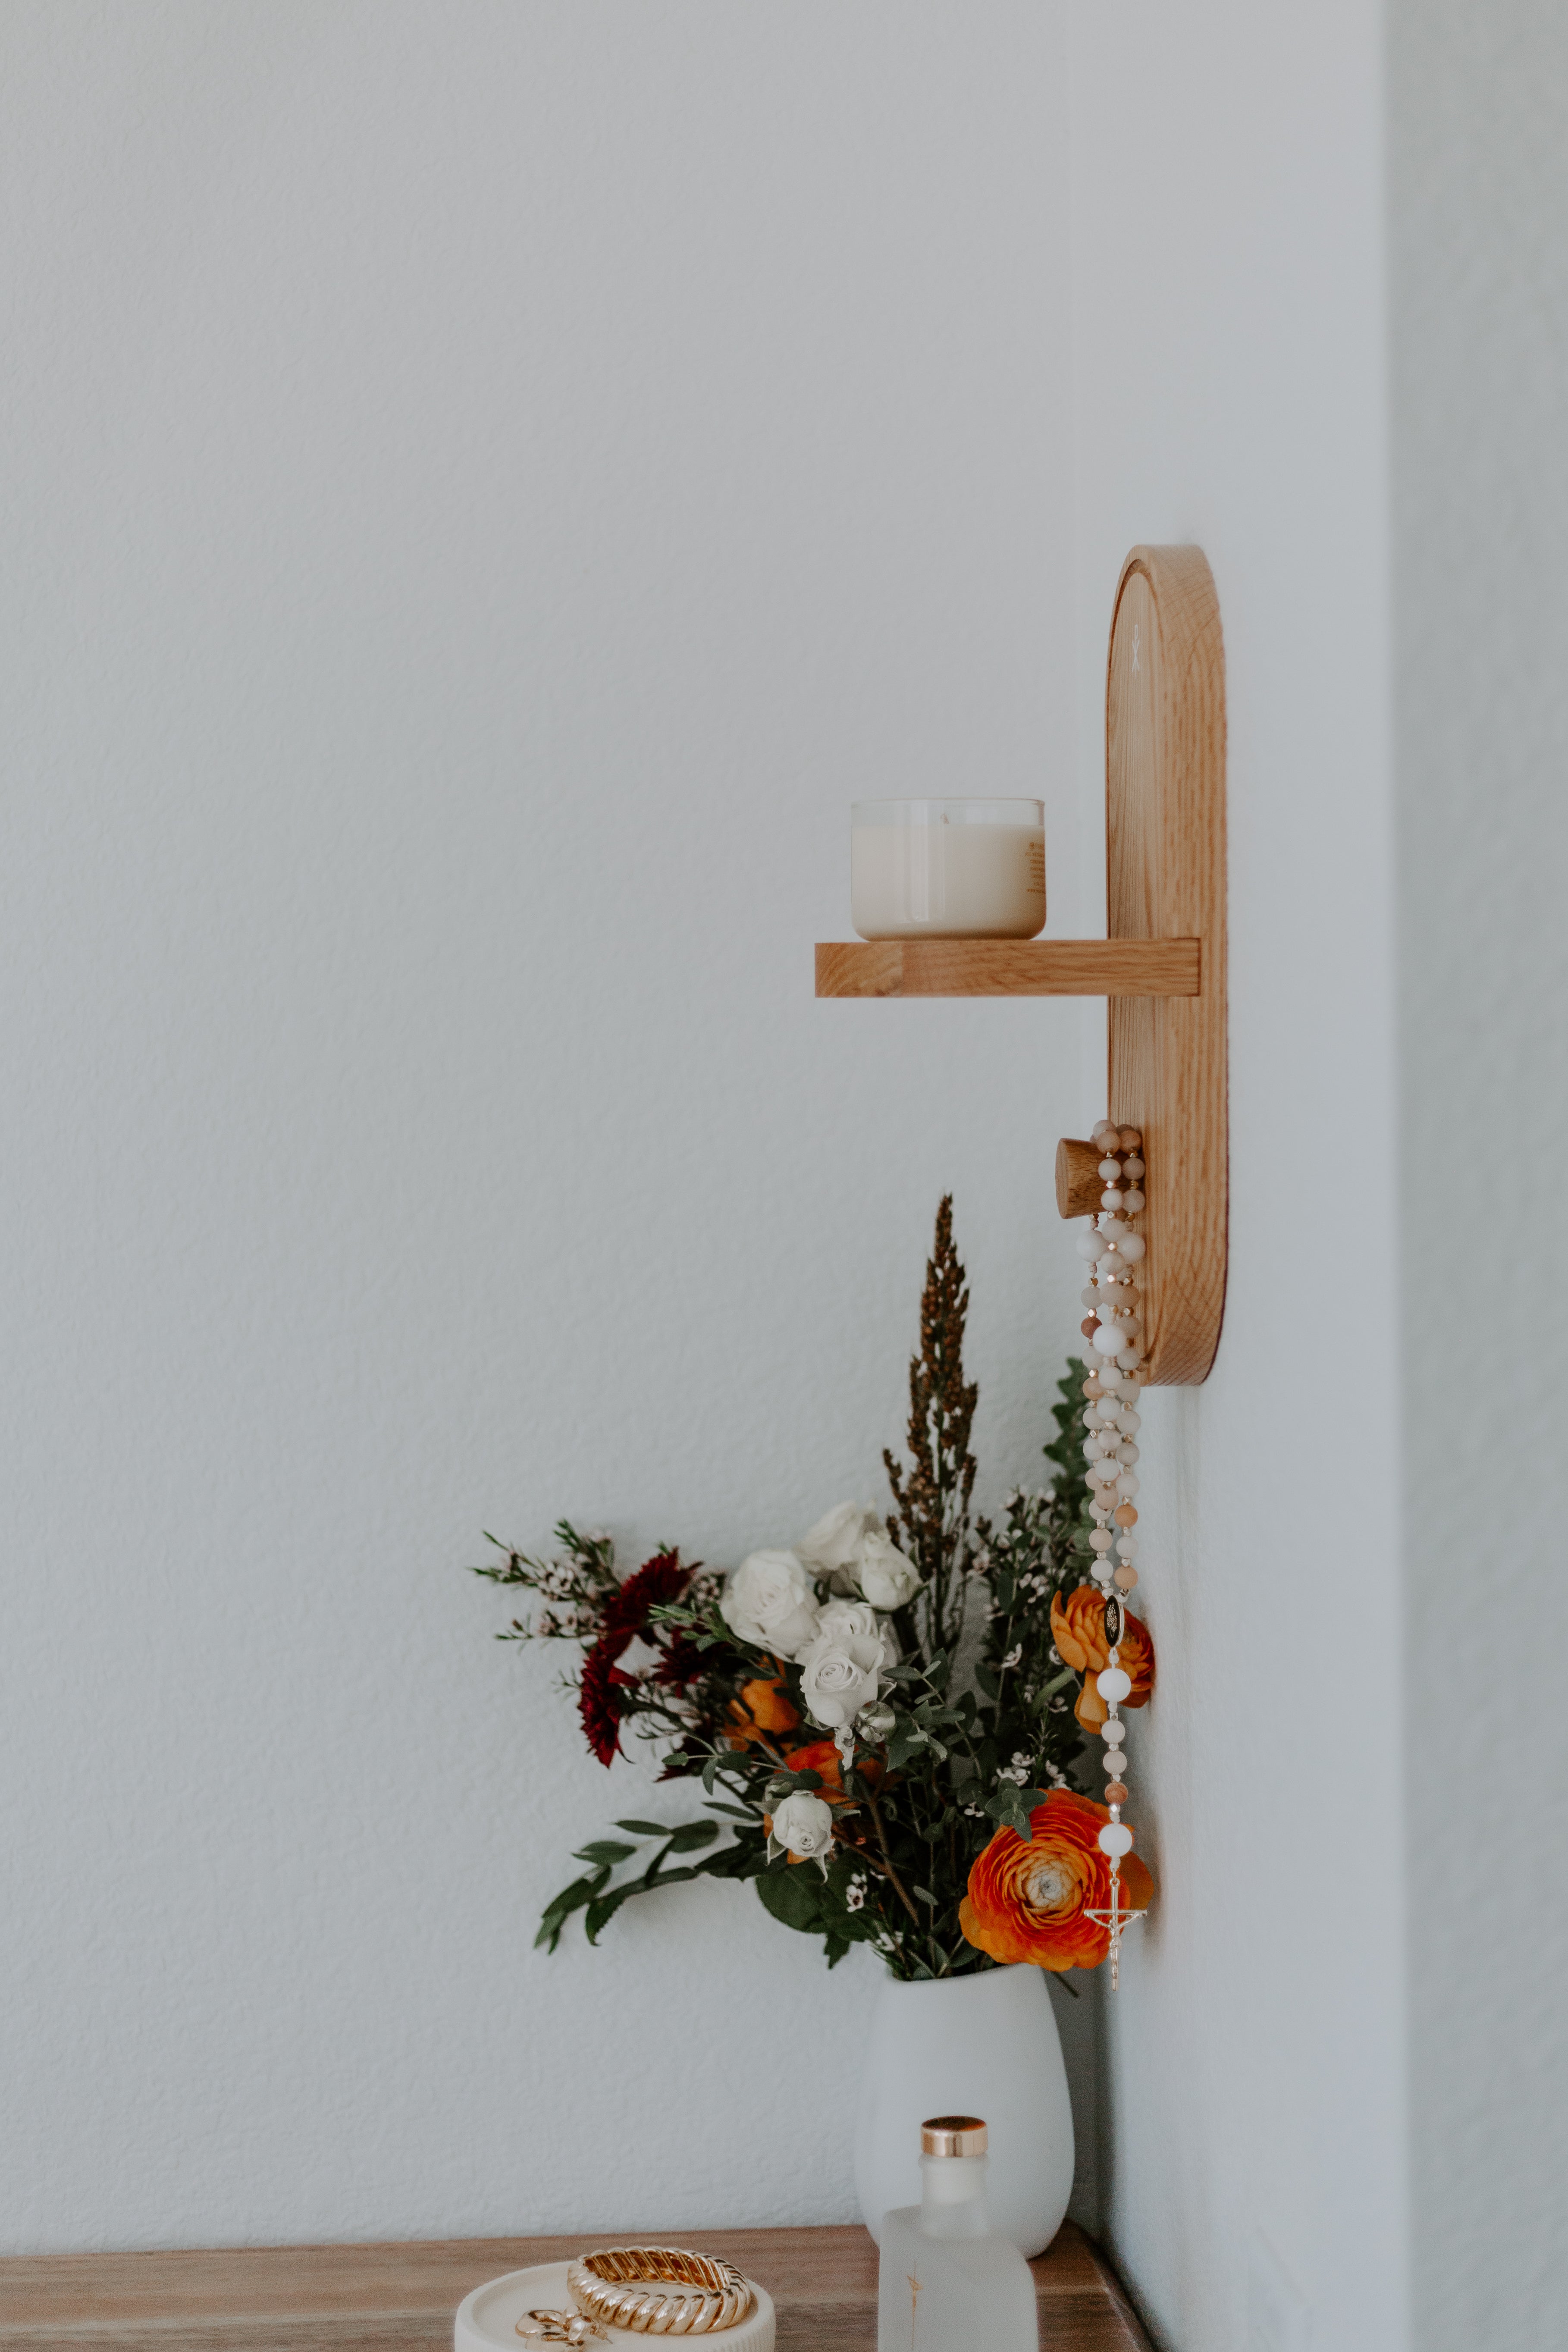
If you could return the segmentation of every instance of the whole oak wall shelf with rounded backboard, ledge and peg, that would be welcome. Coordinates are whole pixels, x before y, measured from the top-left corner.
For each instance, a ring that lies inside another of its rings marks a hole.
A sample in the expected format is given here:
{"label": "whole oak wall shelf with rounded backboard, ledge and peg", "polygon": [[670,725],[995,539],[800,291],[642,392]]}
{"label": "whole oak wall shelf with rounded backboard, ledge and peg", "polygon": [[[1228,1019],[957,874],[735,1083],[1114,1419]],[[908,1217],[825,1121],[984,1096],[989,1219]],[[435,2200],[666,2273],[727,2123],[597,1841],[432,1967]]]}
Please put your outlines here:
{"label": "whole oak wall shelf with rounded backboard, ledge and peg", "polygon": [[[816,950],[818,997],[1107,997],[1107,1108],[1147,1157],[1147,1378],[1208,1378],[1229,1209],[1225,640],[1201,548],[1133,548],[1105,663],[1105,938],[872,938]],[[1084,1157],[1088,1155],[1088,1157]],[[1063,1216],[1095,1207],[1067,1141]]]}

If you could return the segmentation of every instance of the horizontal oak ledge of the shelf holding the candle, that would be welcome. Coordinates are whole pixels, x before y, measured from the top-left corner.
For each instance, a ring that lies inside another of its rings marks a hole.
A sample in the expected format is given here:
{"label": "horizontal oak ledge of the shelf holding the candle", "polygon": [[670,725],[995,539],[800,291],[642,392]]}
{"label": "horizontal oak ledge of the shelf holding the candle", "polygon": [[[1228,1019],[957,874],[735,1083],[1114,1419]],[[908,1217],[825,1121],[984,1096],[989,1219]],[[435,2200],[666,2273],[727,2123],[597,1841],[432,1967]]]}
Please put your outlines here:
{"label": "horizontal oak ledge of the shelf holding the candle", "polygon": [[823,938],[818,997],[1197,997],[1197,938]]}

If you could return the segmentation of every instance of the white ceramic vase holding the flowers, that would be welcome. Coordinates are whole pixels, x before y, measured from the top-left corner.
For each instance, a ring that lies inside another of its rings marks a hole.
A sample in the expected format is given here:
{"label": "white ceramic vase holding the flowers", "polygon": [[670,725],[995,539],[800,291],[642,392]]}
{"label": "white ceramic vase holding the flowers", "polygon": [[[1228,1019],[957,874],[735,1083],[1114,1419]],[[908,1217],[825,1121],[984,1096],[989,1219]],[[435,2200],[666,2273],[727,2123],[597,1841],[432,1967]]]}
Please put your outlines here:
{"label": "white ceramic vase holding the flowers", "polygon": [[919,2204],[919,2126],[978,2114],[990,2126],[990,2225],[1044,2253],[1072,2194],[1072,2105],[1056,2011],[1039,1969],[900,1985],[884,1978],[860,2077],[856,2194],[882,2216]]}

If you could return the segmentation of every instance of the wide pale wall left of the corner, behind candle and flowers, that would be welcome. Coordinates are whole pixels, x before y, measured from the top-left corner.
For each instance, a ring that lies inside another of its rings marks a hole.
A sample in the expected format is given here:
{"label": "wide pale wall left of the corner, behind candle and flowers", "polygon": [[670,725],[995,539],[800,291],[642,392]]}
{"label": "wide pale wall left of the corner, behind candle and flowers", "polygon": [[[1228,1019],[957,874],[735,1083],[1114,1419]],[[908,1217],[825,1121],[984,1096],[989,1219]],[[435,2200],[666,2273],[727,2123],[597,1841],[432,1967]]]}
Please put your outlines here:
{"label": "wide pale wall left of the corner, behind candle and flowers", "polygon": [[865,788],[1044,790],[1091,920],[1053,42],[0,16],[7,2249],[853,2211],[870,1969],[531,1955],[649,1799],[461,1566],[875,1491],[947,1185],[1032,1468],[1086,1014],[811,941]]}

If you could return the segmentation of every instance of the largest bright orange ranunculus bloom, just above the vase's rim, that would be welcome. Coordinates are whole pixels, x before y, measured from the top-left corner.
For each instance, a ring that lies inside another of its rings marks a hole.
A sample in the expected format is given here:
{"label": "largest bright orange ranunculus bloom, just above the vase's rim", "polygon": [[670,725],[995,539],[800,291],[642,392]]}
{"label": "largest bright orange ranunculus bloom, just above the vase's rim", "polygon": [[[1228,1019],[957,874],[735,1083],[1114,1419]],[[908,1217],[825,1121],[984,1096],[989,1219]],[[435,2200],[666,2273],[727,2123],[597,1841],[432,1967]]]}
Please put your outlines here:
{"label": "largest bright orange ranunculus bloom, just above the vase's rim", "polygon": [[[1072,1790],[1053,1790],[1030,1813],[1025,1846],[1016,1830],[997,1830],[969,1872],[959,1903],[959,1926],[969,1943],[1004,1966],[1016,1959],[1037,1969],[1098,1969],[1110,1950],[1110,1929],[1088,1919],[1110,1910],[1110,1860],[1098,1837],[1110,1813]],[[1121,1898],[1128,1910],[1147,1910],[1154,1882],[1135,1853],[1121,1856]]]}

